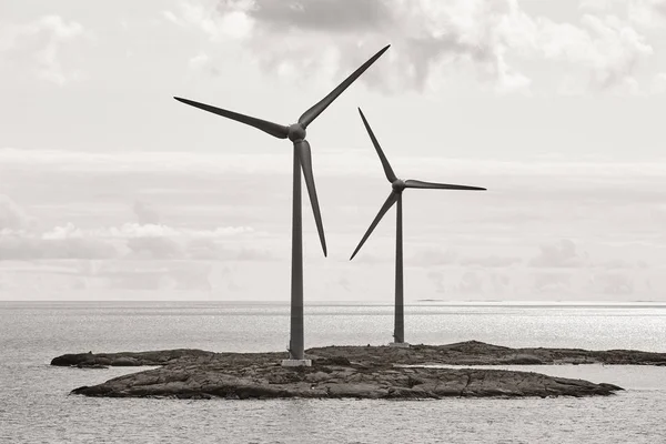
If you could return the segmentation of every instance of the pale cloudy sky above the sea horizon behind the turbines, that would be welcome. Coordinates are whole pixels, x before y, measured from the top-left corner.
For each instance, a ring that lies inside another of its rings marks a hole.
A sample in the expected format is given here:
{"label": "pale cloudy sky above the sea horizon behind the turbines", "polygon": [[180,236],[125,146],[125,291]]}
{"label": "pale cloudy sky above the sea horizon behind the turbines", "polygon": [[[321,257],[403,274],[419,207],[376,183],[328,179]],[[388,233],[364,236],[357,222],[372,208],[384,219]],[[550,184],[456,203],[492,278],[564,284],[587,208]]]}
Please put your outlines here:
{"label": "pale cloudy sky above the sea horizon behind the turbines", "polygon": [[[307,128],[305,301],[666,302],[666,0],[0,0],[0,301],[289,302],[289,141]],[[305,195],[304,195],[305,198]]]}

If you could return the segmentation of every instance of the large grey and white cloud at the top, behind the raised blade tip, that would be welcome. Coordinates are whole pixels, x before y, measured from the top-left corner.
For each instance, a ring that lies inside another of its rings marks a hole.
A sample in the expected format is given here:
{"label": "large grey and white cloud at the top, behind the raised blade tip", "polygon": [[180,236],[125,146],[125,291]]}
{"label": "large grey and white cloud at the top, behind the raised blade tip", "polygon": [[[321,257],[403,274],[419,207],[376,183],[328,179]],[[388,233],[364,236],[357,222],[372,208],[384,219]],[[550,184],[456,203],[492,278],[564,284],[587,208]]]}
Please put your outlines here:
{"label": "large grey and white cloud at the top, behind the raised blade tip", "polygon": [[559,23],[529,14],[517,0],[362,0],[354,8],[333,0],[223,0],[208,9],[182,2],[163,16],[213,42],[236,42],[265,71],[287,77],[306,69],[342,78],[392,43],[381,75],[371,69],[362,78],[385,91],[438,88],[472,73],[497,92],[522,92],[533,80],[519,60],[535,59],[573,65],[585,88],[626,89],[653,52],[628,20],[585,13],[578,23]]}

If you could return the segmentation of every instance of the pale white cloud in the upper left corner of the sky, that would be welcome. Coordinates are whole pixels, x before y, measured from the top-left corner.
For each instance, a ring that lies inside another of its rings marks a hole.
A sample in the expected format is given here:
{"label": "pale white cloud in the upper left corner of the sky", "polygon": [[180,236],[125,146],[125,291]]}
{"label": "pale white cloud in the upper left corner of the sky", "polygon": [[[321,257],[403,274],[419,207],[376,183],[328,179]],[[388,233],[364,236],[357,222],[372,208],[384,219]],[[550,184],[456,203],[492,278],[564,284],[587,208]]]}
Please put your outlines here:
{"label": "pale white cloud in the upper left corner of the sky", "polygon": [[91,34],[81,23],[60,16],[44,16],[27,24],[7,24],[0,31],[0,56],[31,67],[33,73],[60,87],[82,78],[63,65],[63,52],[72,42]]}

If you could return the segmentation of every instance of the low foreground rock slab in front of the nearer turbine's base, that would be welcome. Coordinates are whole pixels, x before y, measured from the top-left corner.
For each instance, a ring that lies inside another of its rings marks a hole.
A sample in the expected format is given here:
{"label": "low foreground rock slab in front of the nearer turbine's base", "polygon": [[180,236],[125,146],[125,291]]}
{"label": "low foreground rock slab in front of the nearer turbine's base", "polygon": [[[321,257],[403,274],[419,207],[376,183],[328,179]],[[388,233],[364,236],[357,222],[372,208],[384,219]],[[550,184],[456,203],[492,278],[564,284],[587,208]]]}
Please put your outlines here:
{"label": "low foreground rock slab in front of the nearer turbine's base", "polygon": [[[107,397],[273,398],[357,397],[441,398],[592,396],[622,390],[612,384],[546,376],[538,373],[475,369],[401,369],[376,365],[370,371],[340,366],[331,373],[316,367],[282,367],[264,360],[252,379],[243,366],[212,360],[200,367],[184,361],[82,386],[73,394]],[[405,373],[408,371],[408,373]]]}

